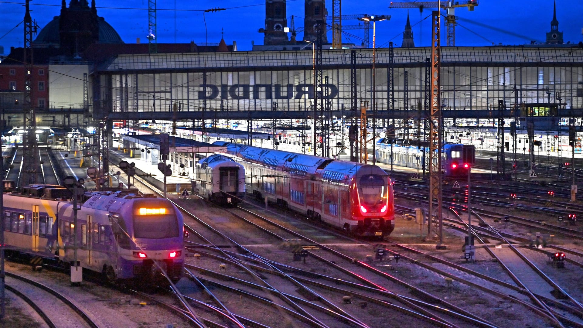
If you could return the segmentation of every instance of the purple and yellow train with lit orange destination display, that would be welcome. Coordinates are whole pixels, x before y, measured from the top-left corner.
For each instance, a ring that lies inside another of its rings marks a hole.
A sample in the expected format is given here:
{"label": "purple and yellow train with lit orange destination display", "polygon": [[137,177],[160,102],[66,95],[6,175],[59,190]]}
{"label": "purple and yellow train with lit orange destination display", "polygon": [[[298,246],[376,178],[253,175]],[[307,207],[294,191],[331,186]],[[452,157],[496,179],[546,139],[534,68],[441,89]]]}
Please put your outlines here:
{"label": "purple and yellow train with lit orange destination display", "polygon": [[76,260],[114,284],[180,280],[185,233],[170,201],[129,190],[78,194],[75,202],[71,190],[47,184],[4,193],[6,255],[63,268]]}

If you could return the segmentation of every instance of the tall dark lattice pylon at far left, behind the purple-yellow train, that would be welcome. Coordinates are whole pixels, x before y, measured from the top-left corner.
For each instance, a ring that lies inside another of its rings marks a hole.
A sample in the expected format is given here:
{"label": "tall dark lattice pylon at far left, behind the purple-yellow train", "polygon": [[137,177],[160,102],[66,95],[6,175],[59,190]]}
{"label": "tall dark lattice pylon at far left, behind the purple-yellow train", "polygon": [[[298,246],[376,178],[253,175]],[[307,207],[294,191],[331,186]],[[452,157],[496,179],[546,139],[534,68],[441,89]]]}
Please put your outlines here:
{"label": "tall dark lattice pylon at far left, behind the purple-yellow train", "polygon": [[22,171],[19,181],[20,186],[33,184],[40,181],[38,176],[40,172],[37,169],[38,146],[36,139],[36,113],[32,103],[33,94],[33,20],[30,17],[30,0],[26,0],[26,13],[24,13],[24,113],[23,113],[23,130],[26,135],[22,138],[23,159]]}

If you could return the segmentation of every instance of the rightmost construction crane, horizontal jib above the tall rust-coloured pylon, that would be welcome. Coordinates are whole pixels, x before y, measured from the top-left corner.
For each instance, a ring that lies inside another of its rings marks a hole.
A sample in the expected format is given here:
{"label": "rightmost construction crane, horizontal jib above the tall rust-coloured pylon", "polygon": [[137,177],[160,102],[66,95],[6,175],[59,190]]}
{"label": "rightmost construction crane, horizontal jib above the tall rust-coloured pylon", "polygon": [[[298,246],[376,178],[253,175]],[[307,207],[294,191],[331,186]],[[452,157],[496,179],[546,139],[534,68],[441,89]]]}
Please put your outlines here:
{"label": "rightmost construction crane, horizontal jib above the tall rust-coloured pylon", "polygon": [[424,8],[440,8],[445,9],[445,26],[447,35],[447,46],[455,46],[455,8],[468,7],[468,11],[473,11],[474,7],[478,5],[477,0],[466,0],[459,3],[456,1],[420,1],[420,2],[391,2],[389,8],[419,8],[423,11]]}

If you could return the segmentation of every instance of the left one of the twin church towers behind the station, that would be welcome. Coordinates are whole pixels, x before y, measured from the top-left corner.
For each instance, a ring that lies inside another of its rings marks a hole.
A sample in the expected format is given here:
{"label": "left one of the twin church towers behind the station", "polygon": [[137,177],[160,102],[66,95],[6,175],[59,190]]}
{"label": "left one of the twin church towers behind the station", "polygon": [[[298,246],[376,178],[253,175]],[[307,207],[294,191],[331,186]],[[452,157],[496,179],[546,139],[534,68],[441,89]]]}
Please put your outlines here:
{"label": "left one of the twin church towers behind the station", "polygon": [[263,44],[286,44],[287,33],[286,0],[265,0],[265,30]]}

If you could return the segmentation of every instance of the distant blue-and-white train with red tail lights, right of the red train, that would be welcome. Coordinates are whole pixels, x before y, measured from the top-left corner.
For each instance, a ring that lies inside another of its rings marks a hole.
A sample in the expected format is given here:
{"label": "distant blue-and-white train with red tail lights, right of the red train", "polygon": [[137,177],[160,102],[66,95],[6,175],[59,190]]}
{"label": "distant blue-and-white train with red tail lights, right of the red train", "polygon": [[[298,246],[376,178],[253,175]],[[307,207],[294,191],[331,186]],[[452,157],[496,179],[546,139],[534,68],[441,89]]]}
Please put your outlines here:
{"label": "distant blue-and-white train with red tail lights, right of the red train", "polygon": [[[388,138],[377,141],[375,148],[377,161],[380,163],[391,163],[391,140]],[[463,158],[463,153],[470,154],[470,158]],[[405,166],[406,168],[422,169],[425,166],[429,169],[429,147],[392,144],[393,164]],[[441,159],[442,172],[445,176],[468,175],[469,163],[475,159],[475,146],[452,144],[446,142],[443,145],[443,155]]]}

